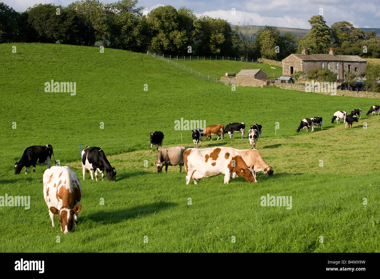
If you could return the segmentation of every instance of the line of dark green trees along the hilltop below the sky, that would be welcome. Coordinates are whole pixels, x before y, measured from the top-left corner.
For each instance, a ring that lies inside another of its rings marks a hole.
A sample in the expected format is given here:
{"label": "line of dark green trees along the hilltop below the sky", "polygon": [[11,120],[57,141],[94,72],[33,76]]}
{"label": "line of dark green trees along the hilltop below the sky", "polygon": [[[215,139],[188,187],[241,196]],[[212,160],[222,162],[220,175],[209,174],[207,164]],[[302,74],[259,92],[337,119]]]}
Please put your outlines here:
{"label": "line of dark green trees along the hilltop below the sky", "polygon": [[276,27],[259,29],[245,22],[231,27],[220,18],[196,17],[185,7],[159,6],[144,14],[144,7],[137,7],[137,3],[82,0],[67,7],[38,4],[23,13],[0,3],[0,43],[97,43],[134,52],[279,61],[301,53],[302,46],[311,54],[328,53],[329,47],[334,47],[335,54],[380,58],[380,38],[376,38],[375,30],[366,33],[346,21],[328,27],[320,15],[311,17],[311,30],[303,37],[290,32],[280,35]]}

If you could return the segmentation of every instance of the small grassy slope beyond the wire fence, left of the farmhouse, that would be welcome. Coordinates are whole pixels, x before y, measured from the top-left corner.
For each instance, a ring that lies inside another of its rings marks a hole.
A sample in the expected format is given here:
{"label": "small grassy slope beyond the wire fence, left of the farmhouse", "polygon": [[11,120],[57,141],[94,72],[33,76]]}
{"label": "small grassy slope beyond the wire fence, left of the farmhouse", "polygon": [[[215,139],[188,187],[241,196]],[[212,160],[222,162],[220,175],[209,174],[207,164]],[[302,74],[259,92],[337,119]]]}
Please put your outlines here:
{"label": "small grassy slope beyond the wire fence, left of the farmhouse", "polygon": [[[200,58],[199,58],[200,59]],[[262,69],[269,78],[282,76],[282,67],[265,63],[247,63],[240,61],[219,61],[219,60],[178,60],[179,64],[192,68],[203,74],[220,79],[225,73],[239,73],[241,69]],[[271,69],[274,67],[275,69]]]}

